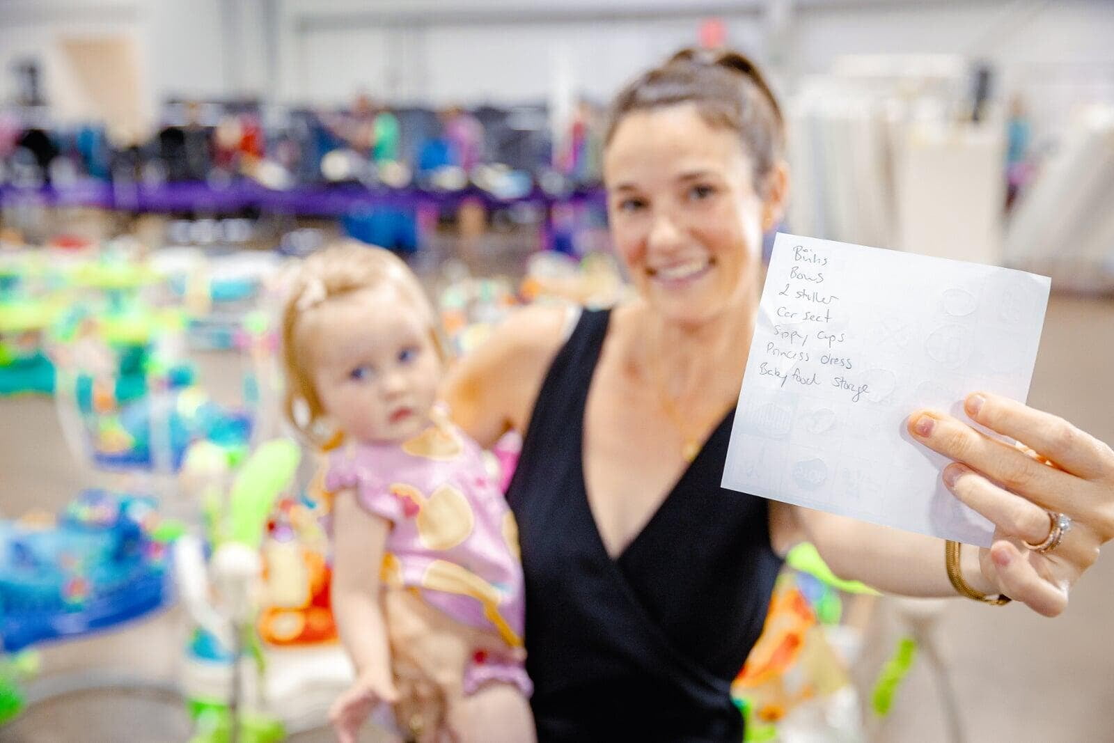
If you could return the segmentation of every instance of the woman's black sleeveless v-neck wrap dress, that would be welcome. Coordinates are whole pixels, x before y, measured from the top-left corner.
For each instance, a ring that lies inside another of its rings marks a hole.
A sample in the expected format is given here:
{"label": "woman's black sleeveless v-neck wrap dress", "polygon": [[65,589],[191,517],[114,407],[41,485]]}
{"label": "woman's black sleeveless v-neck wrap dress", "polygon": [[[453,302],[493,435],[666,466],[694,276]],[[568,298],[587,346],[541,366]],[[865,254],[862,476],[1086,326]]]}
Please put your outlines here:
{"label": "woman's black sleeveless v-neck wrap dress", "polygon": [[538,740],[742,740],[730,696],[781,558],[762,498],[720,487],[734,411],[617,558],[588,502],[584,411],[608,311],[585,311],[549,368],[507,498],[526,576]]}

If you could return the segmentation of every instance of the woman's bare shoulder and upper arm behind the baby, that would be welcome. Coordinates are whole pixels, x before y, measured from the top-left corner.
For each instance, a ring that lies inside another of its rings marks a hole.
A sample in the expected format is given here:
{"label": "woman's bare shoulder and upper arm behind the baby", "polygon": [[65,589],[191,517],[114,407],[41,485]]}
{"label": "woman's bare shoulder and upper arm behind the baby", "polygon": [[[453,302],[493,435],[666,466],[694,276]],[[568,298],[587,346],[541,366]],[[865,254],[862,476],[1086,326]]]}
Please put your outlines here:
{"label": "woman's bare shoulder and upper arm behind the baby", "polygon": [[546,371],[565,342],[567,313],[561,306],[515,312],[446,374],[441,399],[481,447],[510,429],[525,434]]}

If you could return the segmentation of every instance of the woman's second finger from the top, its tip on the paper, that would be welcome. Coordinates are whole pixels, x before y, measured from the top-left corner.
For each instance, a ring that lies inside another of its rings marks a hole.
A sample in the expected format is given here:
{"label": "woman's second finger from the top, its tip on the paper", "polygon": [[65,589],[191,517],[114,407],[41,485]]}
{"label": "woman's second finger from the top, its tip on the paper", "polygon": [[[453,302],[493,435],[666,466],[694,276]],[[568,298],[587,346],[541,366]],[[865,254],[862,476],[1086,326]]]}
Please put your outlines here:
{"label": "woman's second finger from the top, its tip on the paper", "polygon": [[951,416],[920,411],[909,417],[909,432],[929,449],[969,465],[1005,488],[1054,511],[1078,514],[1079,487],[1089,483],[1042,465],[1016,447],[983,436]]}

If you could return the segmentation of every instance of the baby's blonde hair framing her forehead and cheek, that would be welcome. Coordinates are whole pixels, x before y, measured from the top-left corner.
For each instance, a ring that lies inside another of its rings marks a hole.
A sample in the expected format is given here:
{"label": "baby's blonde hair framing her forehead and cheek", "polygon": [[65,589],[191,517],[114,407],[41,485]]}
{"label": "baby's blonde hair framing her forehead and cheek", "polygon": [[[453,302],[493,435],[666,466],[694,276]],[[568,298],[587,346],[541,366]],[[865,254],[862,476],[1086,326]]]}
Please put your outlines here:
{"label": "baby's blonde hair framing her forehead and cheek", "polygon": [[[331,437],[320,431],[324,409],[307,368],[310,354],[299,332],[300,321],[330,299],[384,285],[397,289],[422,315],[438,355],[446,361],[437,315],[426,292],[407,264],[390,251],[355,241],[334,243],[307,257],[290,286],[282,313],[282,362],[286,373],[283,407],[294,430],[320,448],[328,448]],[[296,410],[299,402],[305,405],[304,416]]]}

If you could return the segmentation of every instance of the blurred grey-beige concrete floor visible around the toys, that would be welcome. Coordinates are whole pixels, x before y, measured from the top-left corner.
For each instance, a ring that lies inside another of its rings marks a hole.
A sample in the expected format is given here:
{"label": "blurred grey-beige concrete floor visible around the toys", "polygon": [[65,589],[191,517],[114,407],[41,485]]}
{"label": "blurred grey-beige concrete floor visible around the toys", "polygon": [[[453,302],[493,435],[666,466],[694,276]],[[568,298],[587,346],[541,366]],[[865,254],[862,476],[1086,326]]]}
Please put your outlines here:
{"label": "blurred grey-beige concrete floor visible around the toys", "polygon": [[[1030,404],[1054,411],[1114,441],[1114,302],[1054,296],[1048,306]],[[0,401],[0,515],[55,510],[90,483],[62,443],[50,400]],[[942,569],[942,565],[941,565]],[[1077,585],[1067,612],[1042,618],[948,602],[940,623],[951,682],[968,741],[1114,741],[1114,557]],[[183,620],[168,610],[96,638],[42,648],[43,676],[117,669],[173,682]],[[870,677],[898,636],[895,607],[883,600],[868,629],[860,676]],[[0,729],[0,741],[136,743],[183,741],[185,715],[173,698],[113,694],[65,697]],[[296,741],[331,740],[324,730]],[[877,740],[946,741],[932,676],[918,663]]]}

